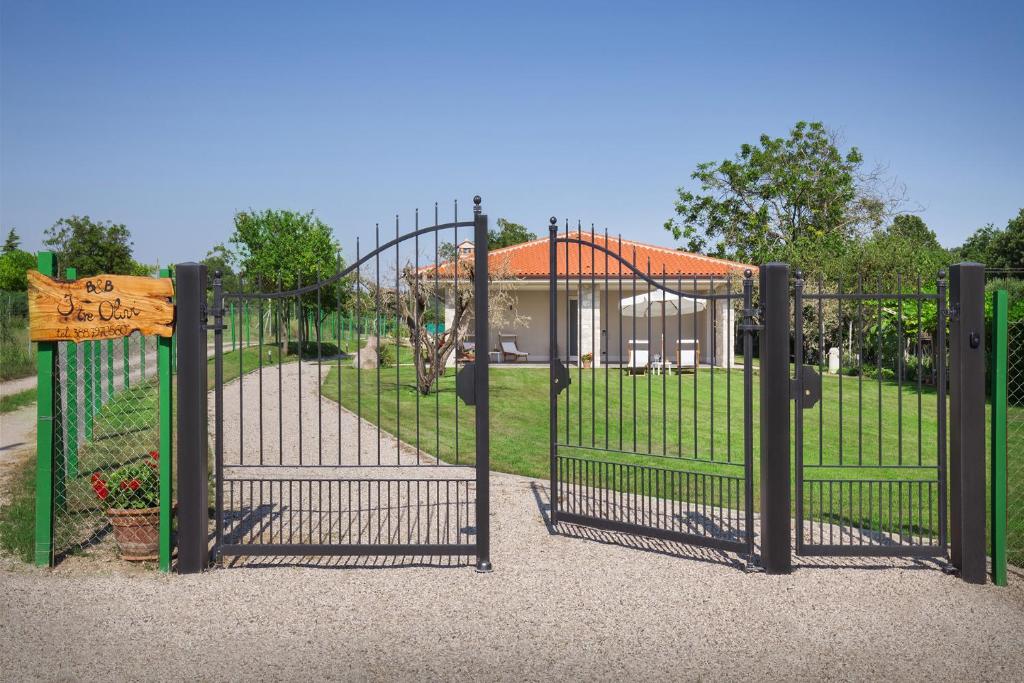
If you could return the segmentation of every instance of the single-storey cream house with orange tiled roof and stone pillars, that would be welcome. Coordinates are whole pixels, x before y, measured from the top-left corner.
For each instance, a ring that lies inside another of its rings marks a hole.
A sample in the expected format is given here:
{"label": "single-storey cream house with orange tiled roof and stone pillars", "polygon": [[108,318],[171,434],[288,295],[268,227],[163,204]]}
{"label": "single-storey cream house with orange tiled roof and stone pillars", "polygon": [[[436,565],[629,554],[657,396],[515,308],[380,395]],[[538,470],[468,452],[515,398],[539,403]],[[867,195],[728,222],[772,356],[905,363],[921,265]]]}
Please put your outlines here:
{"label": "single-storey cream house with orange tiled roof and stone pillars", "polygon": [[[586,231],[558,237],[587,243],[556,246],[557,353],[563,362],[578,364],[590,353],[597,367],[617,366],[627,361],[631,340],[648,340],[652,354],[664,343],[669,360],[675,357],[671,349],[677,348],[677,340],[696,340],[701,365],[725,367],[732,362],[738,299],[703,300],[701,296],[737,291],[744,271],[756,273],[756,266]],[[468,258],[473,244],[462,242],[456,250],[459,258]],[[445,270],[452,270],[451,262],[439,267],[442,278]],[[512,305],[522,321],[515,329],[490,330],[490,346],[497,349],[501,337],[514,335],[517,347],[528,352],[528,361],[548,361],[549,239],[490,251],[488,270],[511,292]],[[641,274],[677,292],[692,294],[692,310],[687,310],[684,300],[678,315],[623,314],[625,301],[657,290]],[[454,315],[450,303],[445,306],[446,325]]]}

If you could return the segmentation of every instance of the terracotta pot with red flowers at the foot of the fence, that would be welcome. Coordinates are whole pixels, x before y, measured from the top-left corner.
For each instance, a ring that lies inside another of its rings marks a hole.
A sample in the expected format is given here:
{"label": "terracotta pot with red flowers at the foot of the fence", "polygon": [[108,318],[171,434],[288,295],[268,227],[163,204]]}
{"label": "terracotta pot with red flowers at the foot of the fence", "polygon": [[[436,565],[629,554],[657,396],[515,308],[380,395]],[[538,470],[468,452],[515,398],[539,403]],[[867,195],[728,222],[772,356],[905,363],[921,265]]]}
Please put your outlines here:
{"label": "terracotta pot with red flowers at the foot of the fence", "polygon": [[156,560],[160,553],[160,455],[92,474],[92,489],[108,506],[106,517],[122,559]]}

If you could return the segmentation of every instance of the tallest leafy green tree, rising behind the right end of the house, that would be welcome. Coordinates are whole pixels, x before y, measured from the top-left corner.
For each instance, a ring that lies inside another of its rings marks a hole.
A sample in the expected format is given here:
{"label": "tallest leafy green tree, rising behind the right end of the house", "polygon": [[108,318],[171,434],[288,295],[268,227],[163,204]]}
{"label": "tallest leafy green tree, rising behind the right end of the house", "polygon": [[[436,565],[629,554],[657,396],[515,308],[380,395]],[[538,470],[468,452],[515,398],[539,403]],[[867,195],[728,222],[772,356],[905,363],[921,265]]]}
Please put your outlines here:
{"label": "tallest leafy green tree, rising behind the right end of the house", "polygon": [[818,270],[851,241],[880,226],[898,198],[880,190],[860,151],[843,151],[820,122],[788,137],[763,134],[732,158],[698,164],[696,187],[679,187],[665,227],[691,251]]}

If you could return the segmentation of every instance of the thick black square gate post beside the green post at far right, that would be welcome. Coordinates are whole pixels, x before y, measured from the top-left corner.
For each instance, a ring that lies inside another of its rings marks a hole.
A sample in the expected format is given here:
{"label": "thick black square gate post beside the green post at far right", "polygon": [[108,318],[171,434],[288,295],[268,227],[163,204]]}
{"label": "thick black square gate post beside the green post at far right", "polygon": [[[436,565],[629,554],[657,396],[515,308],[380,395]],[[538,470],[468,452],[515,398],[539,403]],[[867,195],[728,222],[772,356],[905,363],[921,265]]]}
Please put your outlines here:
{"label": "thick black square gate post beside the green post at far right", "polygon": [[984,584],[985,267],[952,266],[949,295],[949,556],[964,581]]}

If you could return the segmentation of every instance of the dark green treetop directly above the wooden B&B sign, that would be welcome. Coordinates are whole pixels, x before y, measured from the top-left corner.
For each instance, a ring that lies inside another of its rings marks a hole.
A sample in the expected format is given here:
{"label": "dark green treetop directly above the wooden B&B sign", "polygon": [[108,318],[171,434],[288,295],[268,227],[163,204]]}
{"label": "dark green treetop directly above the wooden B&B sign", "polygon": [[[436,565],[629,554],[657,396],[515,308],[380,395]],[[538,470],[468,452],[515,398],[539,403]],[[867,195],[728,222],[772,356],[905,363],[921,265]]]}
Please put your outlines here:
{"label": "dark green treetop directly above the wooden B&B sign", "polygon": [[140,269],[132,258],[131,232],[123,223],[88,216],[61,218],[46,229],[44,244],[56,252],[61,268],[77,268],[79,278],[137,274]]}

